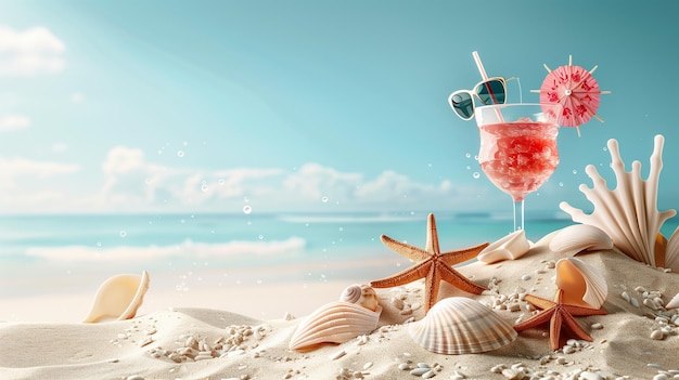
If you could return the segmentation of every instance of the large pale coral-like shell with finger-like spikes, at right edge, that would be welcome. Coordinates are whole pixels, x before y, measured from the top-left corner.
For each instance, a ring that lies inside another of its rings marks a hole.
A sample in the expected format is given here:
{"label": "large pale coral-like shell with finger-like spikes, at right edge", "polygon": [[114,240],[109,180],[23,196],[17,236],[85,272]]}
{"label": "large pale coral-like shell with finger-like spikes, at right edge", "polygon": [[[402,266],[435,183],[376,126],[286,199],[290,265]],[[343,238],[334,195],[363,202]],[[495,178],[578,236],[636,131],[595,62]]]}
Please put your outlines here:
{"label": "large pale coral-like shell with finger-like spikes, at right edge", "polygon": [[[679,261],[676,260],[679,249],[666,254],[666,246],[657,244],[661,227],[665,221],[677,214],[675,210],[661,212],[657,209],[657,187],[663,168],[664,143],[665,139],[662,135],[655,136],[649,178],[644,181],[641,179],[641,162],[633,161],[631,171],[625,171],[625,162],[620,158],[617,141],[608,140],[611,168],[615,173],[616,188],[608,189],[606,182],[597,172],[597,168],[588,165],[585,171],[592,180],[593,187],[580,185],[579,189],[594,206],[592,213],[586,214],[565,201],[560,204],[561,209],[571,214],[574,222],[603,230],[620,252],[652,266],[665,266],[666,261]],[[674,236],[679,236],[679,234]],[[679,246],[679,244],[670,243],[669,246]],[[679,263],[677,265],[679,266]]]}

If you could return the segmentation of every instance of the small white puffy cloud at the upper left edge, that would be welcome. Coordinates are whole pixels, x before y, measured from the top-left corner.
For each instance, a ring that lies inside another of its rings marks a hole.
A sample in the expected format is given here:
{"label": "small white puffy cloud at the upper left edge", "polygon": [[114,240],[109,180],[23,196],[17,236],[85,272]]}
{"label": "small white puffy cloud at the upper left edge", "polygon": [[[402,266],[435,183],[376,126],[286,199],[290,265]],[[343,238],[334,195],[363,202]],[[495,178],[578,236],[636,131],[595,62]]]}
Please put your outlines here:
{"label": "small white puffy cloud at the upper left edge", "polygon": [[64,43],[46,27],[17,31],[0,27],[0,75],[59,73],[66,66]]}

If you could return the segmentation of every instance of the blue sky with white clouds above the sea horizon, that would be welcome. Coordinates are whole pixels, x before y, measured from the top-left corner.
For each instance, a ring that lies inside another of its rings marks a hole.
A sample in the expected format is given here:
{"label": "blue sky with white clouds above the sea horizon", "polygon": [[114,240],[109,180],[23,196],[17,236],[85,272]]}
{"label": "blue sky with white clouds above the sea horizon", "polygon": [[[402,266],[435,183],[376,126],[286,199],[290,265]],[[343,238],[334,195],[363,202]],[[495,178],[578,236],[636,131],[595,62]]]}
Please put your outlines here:
{"label": "blue sky with white clouds above the sea horizon", "polygon": [[528,215],[658,133],[677,208],[678,31],[676,1],[0,0],[0,213],[509,212],[447,105],[472,51],[524,102],[569,54],[612,91]]}

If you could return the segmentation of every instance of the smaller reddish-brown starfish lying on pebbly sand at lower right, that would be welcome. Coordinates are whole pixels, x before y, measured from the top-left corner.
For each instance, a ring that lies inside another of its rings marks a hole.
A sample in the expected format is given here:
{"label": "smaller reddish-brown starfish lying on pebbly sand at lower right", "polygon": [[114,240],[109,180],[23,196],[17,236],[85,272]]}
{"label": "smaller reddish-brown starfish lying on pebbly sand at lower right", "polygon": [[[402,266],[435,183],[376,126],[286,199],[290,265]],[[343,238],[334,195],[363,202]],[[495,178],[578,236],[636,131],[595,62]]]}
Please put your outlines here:
{"label": "smaller reddish-brown starfish lying on pebbly sand at lower right", "polygon": [[604,315],[605,311],[600,309],[591,309],[563,303],[563,291],[560,289],[556,293],[556,302],[546,300],[540,297],[526,294],[526,301],[533,305],[541,309],[542,311],[531,316],[530,318],[516,324],[514,330],[523,331],[531,327],[542,325],[549,320],[549,340],[552,345],[552,350],[559,350],[565,344],[566,339],[561,337],[561,328],[565,327],[571,330],[573,335],[581,340],[588,342],[592,341],[590,337],[578,323],[574,316],[588,316],[588,315]]}

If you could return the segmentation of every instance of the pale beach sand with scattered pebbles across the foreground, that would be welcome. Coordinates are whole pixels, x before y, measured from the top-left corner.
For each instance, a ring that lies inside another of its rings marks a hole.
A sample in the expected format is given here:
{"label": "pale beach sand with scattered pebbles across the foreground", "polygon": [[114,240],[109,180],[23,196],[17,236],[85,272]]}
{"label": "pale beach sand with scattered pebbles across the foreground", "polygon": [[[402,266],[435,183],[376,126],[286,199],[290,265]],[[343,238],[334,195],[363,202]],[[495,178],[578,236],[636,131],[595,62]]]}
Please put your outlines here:
{"label": "pale beach sand with scattered pebbles across the foreground", "polygon": [[[578,258],[605,274],[608,297],[603,309],[608,314],[577,318],[594,341],[587,348],[576,348],[573,353],[552,352],[546,327],[526,330],[510,345],[489,353],[431,353],[413,343],[405,325],[409,318],[422,318],[423,310],[420,307],[411,314],[401,315],[390,302],[392,297],[403,297],[410,304],[422,302],[421,281],[403,288],[379,289],[384,307],[380,327],[368,336],[363,344],[355,339],[306,353],[287,349],[290,337],[302,318],[284,320],[284,313],[297,316],[308,314],[321,304],[336,300],[342,289],[350,284],[326,283],[315,284],[313,287],[291,284],[285,287],[241,288],[231,293],[225,293],[225,289],[201,289],[192,291],[191,297],[178,298],[176,292],[164,294],[154,289],[152,283],[144,305],[138,317],[131,320],[97,325],[0,323],[0,378],[334,379],[344,374],[347,379],[361,376],[366,379],[417,379],[408,370],[399,369],[402,363],[439,366],[435,371],[436,379],[450,379],[456,374],[467,379],[508,378],[491,371],[498,365],[521,367],[526,379],[549,378],[548,375],[553,379],[595,379],[595,376],[600,379],[623,376],[652,379],[658,371],[679,370],[679,328],[670,324],[671,332],[663,340],[651,339],[651,332],[662,327],[659,322],[649,317],[653,311],[643,304],[633,306],[620,297],[626,290],[642,301],[642,294],[635,288],[643,286],[662,292],[667,301],[679,292],[679,274],[663,273],[613,252],[587,253]],[[559,259],[558,254],[546,249],[543,239],[518,260],[491,265],[473,263],[460,267],[460,272],[482,285],[488,285],[492,277],[501,279],[499,291],[502,294],[523,288],[529,293],[551,299],[555,292],[554,270],[538,271],[543,270],[547,261]],[[524,275],[529,275],[530,279],[522,279]],[[366,278],[366,283],[375,278]],[[482,302],[492,300],[492,296],[471,296],[449,286],[444,286],[440,296],[464,296]],[[76,313],[80,316],[87,312],[90,300],[78,297],[79,301],[75,298],[71,301],[80,302],[80,311]],[[31,307],[35,312],[38,306],[33,302],[36,301],[25,300],[24,304],[24,301],[13,301],[15,303],[9,307]],[[52,316],[57,314],[60,302],[64,300],[46,299],[39,302],[39,307],[55,311],[48,315]],[[86,304],[82,305],[82,302]],[[198,309],[169,311],[167,306]],[[234,311],[253,316],[266,315],[267,320],[235,314]],[[498,313],[513,324],[522,312]],[[592,329],[594,323],[603,325],[603,328]],[[181,363],[170,359],[169,355],[177,354],[178,350],[184,349],[187,354],[191,337],[213,348],[219,340],[232,343],[233,348],[223,355],[223,349],[216,350],[215,355],[222,357]],[[146,341],[149,339],[152,341]],[[338,352],[345,354],[332,358]]]}

